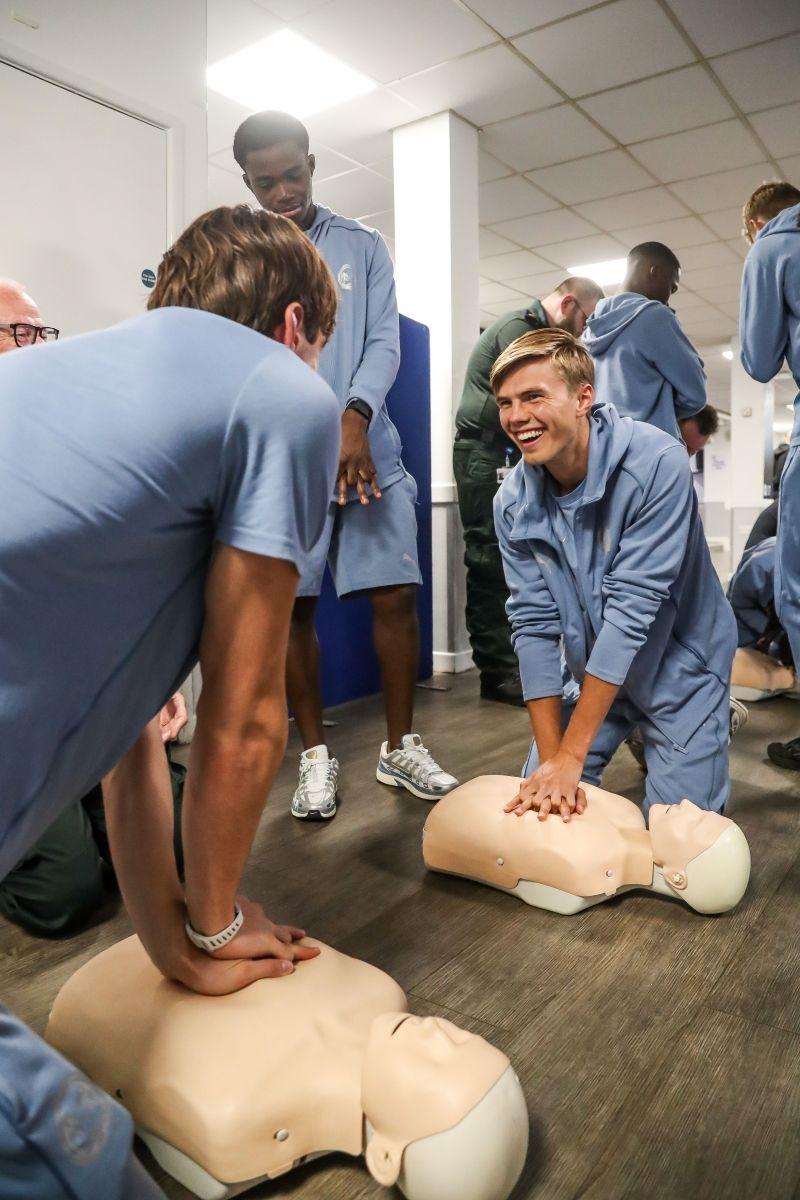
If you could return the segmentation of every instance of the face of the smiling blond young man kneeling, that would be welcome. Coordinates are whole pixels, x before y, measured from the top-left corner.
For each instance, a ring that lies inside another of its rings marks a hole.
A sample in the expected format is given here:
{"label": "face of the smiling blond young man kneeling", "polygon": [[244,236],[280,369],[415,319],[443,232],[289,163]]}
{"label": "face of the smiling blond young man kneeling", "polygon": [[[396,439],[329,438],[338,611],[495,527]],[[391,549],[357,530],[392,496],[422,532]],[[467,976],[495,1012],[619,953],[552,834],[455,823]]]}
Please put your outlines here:
{"label": "face of the smiling blond young man kneeling", "polygon": [[527,463],[546,467],[578,442],[594,389],[570,392],[551,359],[529,359],[510,371],[497,395],[500,425]]}

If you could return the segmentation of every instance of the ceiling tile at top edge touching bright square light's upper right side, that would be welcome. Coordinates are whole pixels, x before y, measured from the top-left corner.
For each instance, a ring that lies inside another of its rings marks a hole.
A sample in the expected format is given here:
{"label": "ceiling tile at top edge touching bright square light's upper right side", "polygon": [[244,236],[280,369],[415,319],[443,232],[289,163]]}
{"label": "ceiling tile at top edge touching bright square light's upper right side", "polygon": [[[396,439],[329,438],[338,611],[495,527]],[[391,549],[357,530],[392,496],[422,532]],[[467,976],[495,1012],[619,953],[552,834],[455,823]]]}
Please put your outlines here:
{"label": "ceiling tile at top edge touching bright square light's upper right side", "polygon": [[451,0],[337,0],[291,28],[380,83],[495,41],[482,20]]}

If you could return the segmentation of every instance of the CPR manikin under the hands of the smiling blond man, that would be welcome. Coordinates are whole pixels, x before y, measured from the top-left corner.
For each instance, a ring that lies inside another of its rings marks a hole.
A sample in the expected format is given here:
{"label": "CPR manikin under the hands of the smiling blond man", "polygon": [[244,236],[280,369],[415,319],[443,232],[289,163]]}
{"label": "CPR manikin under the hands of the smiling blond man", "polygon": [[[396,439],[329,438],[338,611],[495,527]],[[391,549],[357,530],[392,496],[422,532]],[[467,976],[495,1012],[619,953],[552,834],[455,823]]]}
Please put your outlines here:
{"label": "CPR manikin under the hands of the smiling blond man", "polygon": [[648,829],[631,800],[581,786],[587,810],[569,822],[504,812],[519,791],[519,780],[510,775],[483,775],[457,787],[428,815],[426,865],[559,913],[582,912],[631,888],[684,900],[703,913],[727,912],[741,900],[750,850],[728,817],[690,800],[654,804]]}

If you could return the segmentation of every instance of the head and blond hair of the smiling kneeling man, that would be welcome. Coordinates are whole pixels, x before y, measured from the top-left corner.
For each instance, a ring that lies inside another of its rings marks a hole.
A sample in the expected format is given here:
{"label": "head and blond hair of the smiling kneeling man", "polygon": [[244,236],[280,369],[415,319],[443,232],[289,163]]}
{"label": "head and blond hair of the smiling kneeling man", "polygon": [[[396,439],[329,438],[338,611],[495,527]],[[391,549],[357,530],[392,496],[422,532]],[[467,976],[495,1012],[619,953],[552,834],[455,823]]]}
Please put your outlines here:
{"label": "head and blond hair of the smiling kneeling man", "polygon": [[504,432],[527,463],[566,490],[585,476],[594,378],[589,352],[557,329],[523,334],[489,377]]}

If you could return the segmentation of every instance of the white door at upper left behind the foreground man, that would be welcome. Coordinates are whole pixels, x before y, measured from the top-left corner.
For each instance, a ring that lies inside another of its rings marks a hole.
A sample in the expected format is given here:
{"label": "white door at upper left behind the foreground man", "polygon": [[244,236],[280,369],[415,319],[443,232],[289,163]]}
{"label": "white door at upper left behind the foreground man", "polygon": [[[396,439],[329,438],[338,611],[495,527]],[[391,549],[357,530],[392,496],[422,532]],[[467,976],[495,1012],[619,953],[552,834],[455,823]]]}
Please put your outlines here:
{"label": "white door at upper left behind the foreground man", "polygon": [[167,133],[0,62],[0,277],[61,336],[146,305],[167,245]]}

